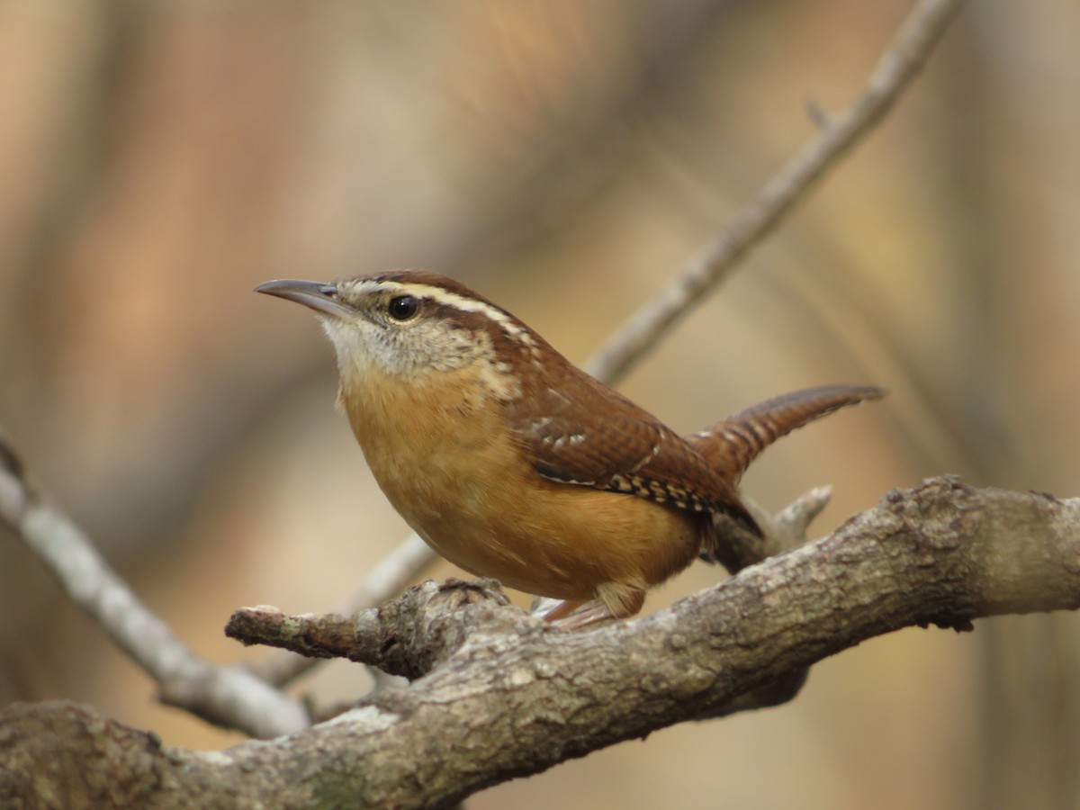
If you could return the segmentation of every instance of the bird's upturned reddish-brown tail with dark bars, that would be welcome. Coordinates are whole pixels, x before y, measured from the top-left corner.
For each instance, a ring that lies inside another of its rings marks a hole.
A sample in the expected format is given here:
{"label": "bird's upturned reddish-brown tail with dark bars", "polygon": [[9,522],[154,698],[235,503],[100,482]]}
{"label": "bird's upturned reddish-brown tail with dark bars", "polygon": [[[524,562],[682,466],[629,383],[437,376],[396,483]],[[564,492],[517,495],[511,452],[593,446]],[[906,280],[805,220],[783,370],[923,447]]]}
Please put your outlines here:
{"label": "bird's upturned reddish-brown tail with dark bars", "polygon": [[864,400],[880,400],[885,390],[872,386],[821,386],[793,391],[751,405],[687,442],[720,477],[739,478],[766,447],[796,428]]}

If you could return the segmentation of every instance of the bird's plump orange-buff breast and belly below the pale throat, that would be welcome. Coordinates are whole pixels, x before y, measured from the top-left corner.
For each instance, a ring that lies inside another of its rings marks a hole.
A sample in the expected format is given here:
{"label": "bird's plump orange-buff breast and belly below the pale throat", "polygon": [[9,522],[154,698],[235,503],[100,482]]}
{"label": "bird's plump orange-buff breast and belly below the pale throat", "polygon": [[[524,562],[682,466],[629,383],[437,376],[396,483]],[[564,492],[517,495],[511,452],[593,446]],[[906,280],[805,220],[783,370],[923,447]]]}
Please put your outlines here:
{"label": "bird's plump orange-buff breast and belly below the pale throat", "polygon": [[644,590],[689,565],[711,526],[707,515],[542,478],[488,409],[461,419],[413,407],[407,420],[395,409],[406,413],[388,401],[349,408],[372,472],[420,537],[477,576],[561,599],[594,598],[607,582]]}

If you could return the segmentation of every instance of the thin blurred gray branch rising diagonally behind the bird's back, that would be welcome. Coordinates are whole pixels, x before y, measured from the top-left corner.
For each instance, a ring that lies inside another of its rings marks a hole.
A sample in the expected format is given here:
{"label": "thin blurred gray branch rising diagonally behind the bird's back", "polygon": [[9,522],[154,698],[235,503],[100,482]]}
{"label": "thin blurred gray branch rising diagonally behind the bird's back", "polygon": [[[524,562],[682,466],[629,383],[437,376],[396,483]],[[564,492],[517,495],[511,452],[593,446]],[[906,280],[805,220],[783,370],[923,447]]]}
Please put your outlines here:
{"label": "thin blurred gray branch rising diagonally behind the bird's back", "polygon": [[922,0],[915,6],[878,60],[863,95],[839,114],[819,116],[821,133],[739,211],[672,284],[615,333],[586,368],[602,379],[619,379],[700,303],[705,293],[777,228],[814,183],[881,121],[926,64],[961,3]]}

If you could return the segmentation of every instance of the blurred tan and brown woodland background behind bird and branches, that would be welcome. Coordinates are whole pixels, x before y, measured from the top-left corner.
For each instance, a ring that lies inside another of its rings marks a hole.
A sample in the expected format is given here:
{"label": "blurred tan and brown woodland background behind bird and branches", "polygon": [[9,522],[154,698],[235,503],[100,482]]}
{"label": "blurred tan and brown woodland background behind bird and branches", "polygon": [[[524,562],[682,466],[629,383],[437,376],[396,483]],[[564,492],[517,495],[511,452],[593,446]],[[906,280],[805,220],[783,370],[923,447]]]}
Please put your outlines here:
{"label": "blurred tan and brown woodland background behind bird and branches", "polygon": [[[200,653],[239,605],[333,609],[405,535],[275,276],[427,266],[583,361],[850,103],[910,4],[0,4],[0,426]],[[971,3],[900,107],[622,387],[692,430],[781,391],[892,395],[745,490],[819,532],[943,472],[1080,494],[1080,5]],[[1017,554],[1024,553],[1017,539]],[[453,572],[440,566],[433,576]],[[652,609],[719,577],[696,566]],[[907,631],[791,705],[687,725],[472,808],[1076,807],[1075,617]],[[237,739],[0,535],[0,701]],[[354,698],[333,665],[300,688]]]}

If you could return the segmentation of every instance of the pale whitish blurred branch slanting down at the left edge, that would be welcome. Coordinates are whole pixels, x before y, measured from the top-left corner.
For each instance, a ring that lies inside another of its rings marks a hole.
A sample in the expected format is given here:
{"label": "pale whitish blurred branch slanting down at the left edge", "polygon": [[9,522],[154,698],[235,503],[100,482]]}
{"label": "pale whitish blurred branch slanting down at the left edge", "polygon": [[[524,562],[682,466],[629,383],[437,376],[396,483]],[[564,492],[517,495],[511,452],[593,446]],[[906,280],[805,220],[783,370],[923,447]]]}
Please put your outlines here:
{"label": "pale whitish blurred branch slanting down at the left edge", "polygon": [[163,703],[253,737],[276,737],[308,726],[308,716],[242,666],[199,658],[138,600],[90,539],[32,484],[10,443],[0,436],[0,522],[56,575],[68,596],[158,681]]}

